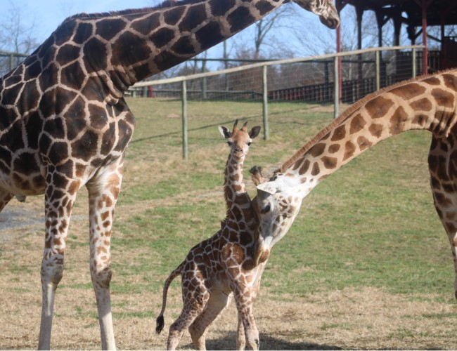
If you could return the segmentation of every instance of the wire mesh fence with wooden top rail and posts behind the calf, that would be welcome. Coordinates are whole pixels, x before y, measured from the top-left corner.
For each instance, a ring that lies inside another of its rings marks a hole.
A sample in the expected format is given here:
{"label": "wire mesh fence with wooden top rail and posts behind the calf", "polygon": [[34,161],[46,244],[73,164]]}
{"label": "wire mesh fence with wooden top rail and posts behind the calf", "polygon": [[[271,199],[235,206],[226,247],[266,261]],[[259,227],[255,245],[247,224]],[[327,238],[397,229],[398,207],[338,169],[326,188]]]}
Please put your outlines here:
{"label": "wire mesh fence with wooden top rail and posts behind the calf", "polygon": [[129,93],[167,103],[182,100],[183,155],[187,157],[187,105],[202,101],[259,102],[264,138],[269,138],[268,105],[273,102],[352,104],[378,89],[422,72],[423,46],[371,48],[351,53],[240,65],[217,72],[143,81]]}

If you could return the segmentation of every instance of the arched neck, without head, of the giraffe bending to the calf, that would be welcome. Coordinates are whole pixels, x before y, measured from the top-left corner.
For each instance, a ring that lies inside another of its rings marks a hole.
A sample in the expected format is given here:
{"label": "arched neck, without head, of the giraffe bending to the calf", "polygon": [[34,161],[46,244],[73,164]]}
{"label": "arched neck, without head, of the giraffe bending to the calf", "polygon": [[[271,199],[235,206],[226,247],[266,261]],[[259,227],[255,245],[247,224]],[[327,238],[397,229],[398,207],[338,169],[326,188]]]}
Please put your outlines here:
{"label": "arched neck, without head, of the giraffe bending to the calf", "polygon": [[297,186],[305,197],[321,180],[392,135],[425,129],[446,137],[457,121],[456,98],[457,71],[368,95],[286,161],[277,180]]}

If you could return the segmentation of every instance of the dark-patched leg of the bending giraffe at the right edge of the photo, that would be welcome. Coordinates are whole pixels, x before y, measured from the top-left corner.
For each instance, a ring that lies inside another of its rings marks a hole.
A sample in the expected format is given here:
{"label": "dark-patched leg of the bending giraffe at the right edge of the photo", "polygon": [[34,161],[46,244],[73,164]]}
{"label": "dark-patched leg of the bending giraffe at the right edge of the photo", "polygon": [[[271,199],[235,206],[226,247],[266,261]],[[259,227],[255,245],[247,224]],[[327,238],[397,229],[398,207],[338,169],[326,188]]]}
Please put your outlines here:
{"label": "dark-patched leg of the bending giraffe at the right edge of the photo", "polygon": [[[432,146],[428,157],[430,170],[430,185],[432,187],[433,201],[439,219],[444,226],[444,230],[451,244],[451,251],[456,277],[454,279],[454,295],[457,298],[457,179],[454,179],[448,168],[453,167],[453,161],[442,161],[444,159],[443,150],[447,150],[448,145],[443,145],[442,141],[432,138]],[[452,150],[448,154],[453,154]]]}

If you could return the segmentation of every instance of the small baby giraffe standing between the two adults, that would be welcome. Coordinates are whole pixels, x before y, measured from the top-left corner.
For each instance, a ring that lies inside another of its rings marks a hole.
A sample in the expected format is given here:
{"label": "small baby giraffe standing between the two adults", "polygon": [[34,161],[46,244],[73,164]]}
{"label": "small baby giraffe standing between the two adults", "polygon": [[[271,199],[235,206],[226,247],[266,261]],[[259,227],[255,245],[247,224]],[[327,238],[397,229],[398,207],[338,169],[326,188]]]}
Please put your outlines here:
{"label": "small baby giraffe standing between the two adults", "polygon": [[252,303],[259,290],[266,258],[257,267],[254,266],[257,217],[246,192],[243,161],[260,127],[256,126],[248,132],[246,123],[240,129],[237,123],[231,132],[219,126],[219,131],[230,146],[224,180],[226,219],[221,222],[219,232],[189,251],[186,259],[165,282],[162,310],[155,329],[157,333],[162,331],[165,324],[163,314],[169,284],[179,275],[184,303],[181,314],[169,328],[168,350],[176,348],[186,329],[189,329],[195,347],[205,350],[208,327],[226,309],[232,292],[238,310],[236,346],[238,350],[243,350],[247,340],[253,350],[259,348],[259,332],[252,313]]}

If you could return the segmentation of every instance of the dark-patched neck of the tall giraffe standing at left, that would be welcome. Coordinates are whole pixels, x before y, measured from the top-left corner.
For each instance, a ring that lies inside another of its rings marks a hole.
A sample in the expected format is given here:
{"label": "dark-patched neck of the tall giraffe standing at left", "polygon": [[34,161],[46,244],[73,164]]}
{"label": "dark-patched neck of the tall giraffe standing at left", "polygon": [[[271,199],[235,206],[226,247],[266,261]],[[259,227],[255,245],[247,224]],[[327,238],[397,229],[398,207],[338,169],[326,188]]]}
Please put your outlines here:
{"label": "dark-patched neck of the tall giraffe standing at left", "polygon": [[57,45],[84,46],[89,73],[108,74],[108,85],[123,92],[219,44],[288,1],[185,0],[174,6],[81,14],[65,20],[50,39]]}

